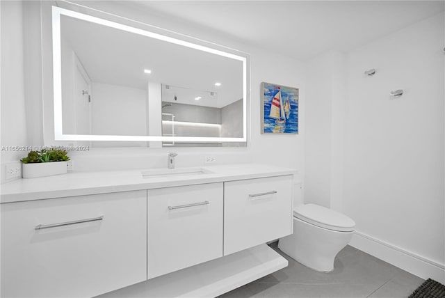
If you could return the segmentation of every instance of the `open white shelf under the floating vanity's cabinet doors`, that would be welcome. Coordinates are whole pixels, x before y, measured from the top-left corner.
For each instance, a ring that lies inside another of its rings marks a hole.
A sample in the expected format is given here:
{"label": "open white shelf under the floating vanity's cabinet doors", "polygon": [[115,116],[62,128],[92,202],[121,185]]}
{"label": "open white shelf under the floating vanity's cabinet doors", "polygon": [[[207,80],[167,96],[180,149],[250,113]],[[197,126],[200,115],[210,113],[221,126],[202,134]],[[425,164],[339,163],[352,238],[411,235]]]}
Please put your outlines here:
{"label": "open white shelf under the floating vanity's cabinet doors", "polygon": [[266,244],[261,244],[99,297],[217,297],[287,265],[289,262],[285,258]]}

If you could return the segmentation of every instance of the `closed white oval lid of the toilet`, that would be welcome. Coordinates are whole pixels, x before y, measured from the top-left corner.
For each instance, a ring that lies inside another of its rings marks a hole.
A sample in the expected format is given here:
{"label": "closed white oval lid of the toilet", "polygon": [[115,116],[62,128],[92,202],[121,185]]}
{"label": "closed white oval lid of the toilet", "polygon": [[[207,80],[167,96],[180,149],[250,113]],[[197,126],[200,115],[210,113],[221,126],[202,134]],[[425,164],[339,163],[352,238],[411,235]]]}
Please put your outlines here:
{"label": "closed white oval lid of the toilet", "polygon": [[329,230],[351,232],[355,228],[355,221],[345,214],[315,204],[304,204],[294,207],[293,216],[309,224]]}

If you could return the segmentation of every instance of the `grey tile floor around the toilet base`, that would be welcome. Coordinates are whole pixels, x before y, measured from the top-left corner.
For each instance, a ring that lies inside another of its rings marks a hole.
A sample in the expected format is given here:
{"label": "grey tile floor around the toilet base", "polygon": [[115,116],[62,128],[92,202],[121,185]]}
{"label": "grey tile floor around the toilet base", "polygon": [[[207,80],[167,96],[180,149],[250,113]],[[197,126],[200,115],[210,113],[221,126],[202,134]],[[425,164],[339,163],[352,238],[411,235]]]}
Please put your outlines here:
{"label": "grey tile floor around the toilet base", "polygon": [[374,258],[363,251],[346,246],[334,262],[334,271],[316,272],[271,247],[289,260],[289,266],[218,298],[406,298],[423,279]]}

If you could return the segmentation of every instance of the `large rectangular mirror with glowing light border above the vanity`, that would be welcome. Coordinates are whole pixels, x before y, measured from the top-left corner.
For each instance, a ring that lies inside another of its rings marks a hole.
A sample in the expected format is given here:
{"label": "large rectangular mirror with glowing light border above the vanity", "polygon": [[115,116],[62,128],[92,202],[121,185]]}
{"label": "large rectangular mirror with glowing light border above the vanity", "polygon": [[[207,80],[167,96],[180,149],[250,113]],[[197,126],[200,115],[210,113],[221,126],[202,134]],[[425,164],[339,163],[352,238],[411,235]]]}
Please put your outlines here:
{"label": "large rectangular mirror with glowing light border above the vanity", "polygon": [[245,54],[53,7],[53,63],[56,140],[246,141]]}

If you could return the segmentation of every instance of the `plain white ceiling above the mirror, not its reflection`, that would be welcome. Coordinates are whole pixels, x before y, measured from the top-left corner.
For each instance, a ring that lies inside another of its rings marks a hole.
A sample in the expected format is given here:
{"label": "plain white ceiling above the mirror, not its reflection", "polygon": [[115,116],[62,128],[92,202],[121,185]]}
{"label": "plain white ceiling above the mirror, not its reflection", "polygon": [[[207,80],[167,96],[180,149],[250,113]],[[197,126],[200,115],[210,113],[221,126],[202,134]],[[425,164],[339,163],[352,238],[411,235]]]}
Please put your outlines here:
{"label": "plain white ceiling above the mirror, not its reflection", "polygon": [[127,5],[305,60],[394,33],[444,11],[445,1],[127,1]]}

